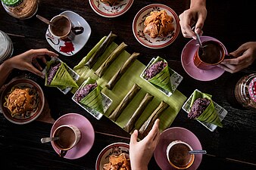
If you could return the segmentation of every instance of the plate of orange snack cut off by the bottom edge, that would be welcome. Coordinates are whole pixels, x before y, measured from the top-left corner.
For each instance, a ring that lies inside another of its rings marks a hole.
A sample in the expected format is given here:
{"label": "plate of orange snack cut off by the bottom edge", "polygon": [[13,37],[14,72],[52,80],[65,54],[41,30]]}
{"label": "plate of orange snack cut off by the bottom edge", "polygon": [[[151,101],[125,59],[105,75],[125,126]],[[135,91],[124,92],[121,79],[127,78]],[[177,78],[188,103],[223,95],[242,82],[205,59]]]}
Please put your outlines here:
{"label": "plate of orange snack cut off by the bottom edge", "polygon": [[98,154],[95,169],[131,169],[129,149],[129,144],[122,142],[108,145]]}

